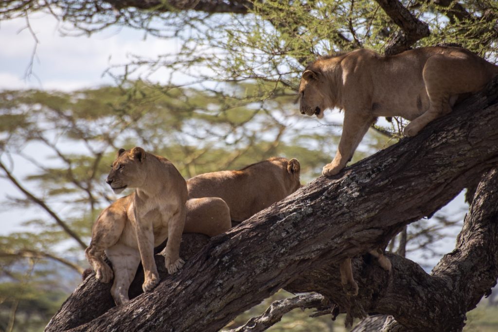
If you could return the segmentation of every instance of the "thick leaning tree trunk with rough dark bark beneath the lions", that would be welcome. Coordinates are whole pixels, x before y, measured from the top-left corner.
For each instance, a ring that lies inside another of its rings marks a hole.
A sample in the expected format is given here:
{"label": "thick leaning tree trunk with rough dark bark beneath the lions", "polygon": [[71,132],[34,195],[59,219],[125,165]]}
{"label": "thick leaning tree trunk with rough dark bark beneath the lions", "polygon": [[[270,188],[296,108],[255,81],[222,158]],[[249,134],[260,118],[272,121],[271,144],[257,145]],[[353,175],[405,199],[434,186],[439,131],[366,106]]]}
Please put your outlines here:
{"label": "thick leaning tree trunk with rough dark bark beneath the lions", "polygon": [[[459,236],[460,246],[442,259],[432,276],[393,254],[388,255],[393,265],[389,274],[375,260],[368,264],[365,254],[354,259],[360,293],[349,298],[342,291],[337,263],[386,245],[404,225],[433,215],[497,164],[497,87],[498,79],[416,137],[402,139],[337,176],[320,177],[210,239],[180,273],[163,278],[152,292],[84,325],[80,325],[83,320],[68,324],[72,320],[68,309],[74,313],[89,303],[100,303],[102,295],[90,291],[106,285],[88,277],[47,331],[78,325],[73,331],[123,327],[126,331],[218,331],[280,288],[319,292],[341,311],[349,310],[350,316],[392,315],[404,331],[429,327],[458,331],[466,311],[498,276],[493,228],[498,213],[488,215],[485,210],[489,201],[497,200],[496,172],[489,173],[477,190],[474,212]],[[184,242],[190,244],[186,237]],[[110,298],[108,290],[104,293]]]}

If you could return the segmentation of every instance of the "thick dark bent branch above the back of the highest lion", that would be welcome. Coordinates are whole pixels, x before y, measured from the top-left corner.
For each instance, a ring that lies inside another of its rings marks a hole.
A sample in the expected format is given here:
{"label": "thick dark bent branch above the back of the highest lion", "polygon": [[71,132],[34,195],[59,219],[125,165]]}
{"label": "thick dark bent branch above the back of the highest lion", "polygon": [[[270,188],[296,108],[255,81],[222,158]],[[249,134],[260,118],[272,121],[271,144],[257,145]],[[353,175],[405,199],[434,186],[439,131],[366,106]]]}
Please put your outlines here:
{"label": "thick dark bent branch above the back of the highest lion", "polygon": [[416,18],[398,0],[376,0],[385,13],[401,28],[385,47],[385,55],[394,55],[410,49],[418,40],[427,37],[429,25]]}

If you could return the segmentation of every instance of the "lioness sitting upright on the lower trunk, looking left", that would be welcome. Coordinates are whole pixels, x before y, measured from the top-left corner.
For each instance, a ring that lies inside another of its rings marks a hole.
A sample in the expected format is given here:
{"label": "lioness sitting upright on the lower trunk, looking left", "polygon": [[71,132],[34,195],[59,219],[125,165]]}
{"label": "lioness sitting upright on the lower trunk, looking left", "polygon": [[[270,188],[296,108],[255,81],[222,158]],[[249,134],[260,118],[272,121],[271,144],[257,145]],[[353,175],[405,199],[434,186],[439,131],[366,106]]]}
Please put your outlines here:
{"label": "lioness sitting upright on the lower trunk, looking left", "polygon": [[[135,191],[100,214],[85,255],[99,281],[108,283],[114,274],[111,294],[120,305],[129,301],[128,288],[140,260],[145,275],[143,291],[159,283],[154,247],[166,238],[160,254],[165,256],[168,272],[173,274],[183,266],[179,251],[187,186],[171,162],[139,147],[120,149],[106,182],[117,194],[128,187]],[[102,258],[104,252],[113,263],[114,273]]]}

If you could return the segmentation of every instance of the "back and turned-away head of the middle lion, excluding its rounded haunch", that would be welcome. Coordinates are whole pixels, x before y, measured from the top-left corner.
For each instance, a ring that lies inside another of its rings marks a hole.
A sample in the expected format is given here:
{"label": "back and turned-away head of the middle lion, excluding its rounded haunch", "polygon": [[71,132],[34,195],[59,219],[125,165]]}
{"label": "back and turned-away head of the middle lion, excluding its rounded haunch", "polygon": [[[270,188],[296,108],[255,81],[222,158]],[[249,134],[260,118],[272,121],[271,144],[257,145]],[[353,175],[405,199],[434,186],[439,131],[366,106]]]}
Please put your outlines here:
{"label": "back and turned-away head of the middle lion, excluding its rounded haunch", "polygon": [[206,173],[187,180],[188,197],[219,197],[233,221],[244,221],[300,187],[296,159],[270,158],[238,171]]}

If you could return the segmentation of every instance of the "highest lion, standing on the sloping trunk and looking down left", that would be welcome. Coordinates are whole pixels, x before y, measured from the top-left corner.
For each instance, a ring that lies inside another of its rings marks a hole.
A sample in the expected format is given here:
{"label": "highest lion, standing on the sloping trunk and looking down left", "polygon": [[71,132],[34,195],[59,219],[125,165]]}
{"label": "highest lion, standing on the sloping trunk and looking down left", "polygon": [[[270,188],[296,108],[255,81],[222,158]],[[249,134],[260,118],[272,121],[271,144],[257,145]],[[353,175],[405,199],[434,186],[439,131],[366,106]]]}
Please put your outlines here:
{"label": "highest lion, standing on the sloping trunk and looking down left", "polygon": [[339,148],[323,175],[346,166],[377,116],[410,120],[403,133],[414,136],[496,75],[497,66],[458,47],[425,47],[386,57],[359,49],[315,61],[301,78],[301,113],[322,118],[326,109],[344,110]]}

